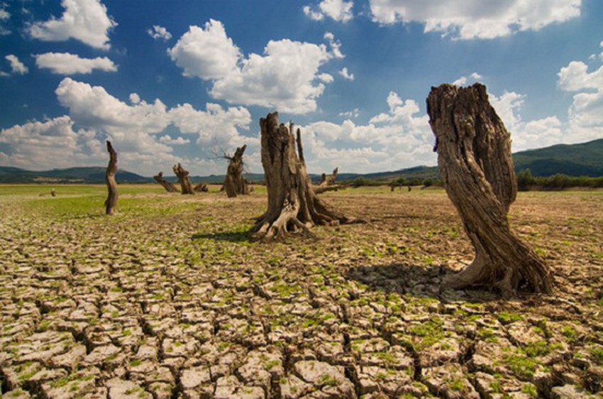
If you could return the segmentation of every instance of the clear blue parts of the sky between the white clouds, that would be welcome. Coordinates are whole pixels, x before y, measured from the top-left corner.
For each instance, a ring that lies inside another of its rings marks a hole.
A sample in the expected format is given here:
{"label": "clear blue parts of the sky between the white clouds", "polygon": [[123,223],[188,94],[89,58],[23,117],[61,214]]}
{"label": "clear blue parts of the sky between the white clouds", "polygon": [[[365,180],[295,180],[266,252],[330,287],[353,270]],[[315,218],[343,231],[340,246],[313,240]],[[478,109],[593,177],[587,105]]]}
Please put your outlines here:
{"label": "clear blue parts of the sky between the white clouds", "polygon": [[[12,54],[28,67],[24,75],[0,77],[0,129],[43,121],[69,114],[57,101],[55,89],[65,75],[53,74],[35,66],[33,55],[72,53],[81,58],[108,57],[117,72],[95,70],[72,75],[72,79],[106,92],[128,103],[135,92],[146,102],[160,99],[168,108],[189,103],[205,109],[206,103],[222,106],[245,106],[252,122],[243,135],[257,136],[258,119],[268,109],[264,106],[230,104],[209,95],[211,81],[184,77],[167,49],[189,30],[204,26],[210,18],[221,21],[226,35],[243,55],[262,55],[269,40],[291,39],[299,42],[326,43],[323,35],[331,32],[341,42],[345,58],[333,59],[320,72],[333,75],[323,94],[316,99],[316,111],[306,114],[284,114],[297,124],[329,121],[341,124],[340,113],[358,109],[357,125],[367,124],[375,115],[386,112],[386,99],[395,92],[402,99],[412,99],[425,113],[425,99],[432,85],[453,82],[461,76],[477,72],[496,96],[516,92],[524,96],[521,118],[524,121],[554,115],[564,124],[574,92],[558,87],[558,72],[572,60],[597,70],[601,60],[589,59],[601,53],[603,40],[603,1],[586,0],[581,15],[563,23],[552,23],[538,31],[522,31],[494,39],[454,40],[441,32],[424,32],[420,22],[395,23],[384,26],[372,21],[367,1],[355,1],[352,21],[325,18],[313,21],[304,14],[306,4],[319,1],[184,1],[184,0],[102,0],[109,16],[118,26],[109,31],[111,48],[99,50],[77,40],[42,41],[26,33],[28,23],[59,18],[64,11],[59,0],[9,0],[5,10],[11,13],[4,27],[11,34],[0,36],[0,70],[10,72],[4,59]],[[26,12],[21,9],[26,9]],[[147,30],[160,25],[172,33],[170,40],[153,40]],[[353,81],[338,77],[347,67],[355,75]],[[170,127],[170,129],[172,129]],[[170,129],[167,132],[170,133]],[[171,134],[171,133],[170,133]],[[177,136],[177,133],[174,133]],[[353,147],[350,143],[333,146]],[[0,151],[9,151],[0,143]],[[191,155],[194,149],[182,150]]]}

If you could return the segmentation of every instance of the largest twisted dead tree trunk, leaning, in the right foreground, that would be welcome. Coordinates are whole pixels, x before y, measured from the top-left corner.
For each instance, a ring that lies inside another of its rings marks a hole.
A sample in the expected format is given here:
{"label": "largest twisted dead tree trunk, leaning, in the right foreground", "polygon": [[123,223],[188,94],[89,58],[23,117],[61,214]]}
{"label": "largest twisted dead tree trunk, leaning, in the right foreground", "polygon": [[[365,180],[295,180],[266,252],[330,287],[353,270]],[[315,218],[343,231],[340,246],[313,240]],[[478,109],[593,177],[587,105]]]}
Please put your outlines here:
{"label": "largest twisted dead tree trunk, leaning, in the right foreground", "polygon": [[525,283],[536,293],[551,293],[551,270],[509,229],[507,212],[516,196],[511,140],[486,87],[432,87],[427,113],[446,192],[476,252],[444,287],[481,285],[508,296]]}

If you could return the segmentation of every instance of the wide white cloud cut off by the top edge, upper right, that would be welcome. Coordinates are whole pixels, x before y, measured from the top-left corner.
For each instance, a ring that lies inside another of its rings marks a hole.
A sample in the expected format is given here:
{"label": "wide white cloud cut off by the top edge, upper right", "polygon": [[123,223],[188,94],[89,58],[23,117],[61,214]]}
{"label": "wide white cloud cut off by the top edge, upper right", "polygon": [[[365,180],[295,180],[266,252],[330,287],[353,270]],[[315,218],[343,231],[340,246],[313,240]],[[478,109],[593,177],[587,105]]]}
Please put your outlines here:
{"label": "wide white cloud cut off by the top edge, upper right", "polygon": [[538,31],[580,16],[582,0],[369,0],[377,23],[424,24],[456,39],[492,39]]}

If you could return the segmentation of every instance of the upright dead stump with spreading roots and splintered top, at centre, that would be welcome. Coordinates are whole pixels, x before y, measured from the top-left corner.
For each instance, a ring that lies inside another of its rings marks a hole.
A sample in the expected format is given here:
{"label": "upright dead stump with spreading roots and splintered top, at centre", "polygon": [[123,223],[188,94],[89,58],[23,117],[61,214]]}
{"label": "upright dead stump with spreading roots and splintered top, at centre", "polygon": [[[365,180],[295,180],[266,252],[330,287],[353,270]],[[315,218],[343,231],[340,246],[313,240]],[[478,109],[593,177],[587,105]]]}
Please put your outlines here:
{"label": "upright dead stump with spreading roots and splintered top, at centre", "polygon": [[304,231],[315,224],[340,224],[356,219],[339,214],[319,200],[306,173],[302,139],[293,124],[279,125],[278,113],[260,119],[262,131],[262,166],[268,192],[268,209],[253,227],[255,236],[266,240],[281,237],[288,231]]}

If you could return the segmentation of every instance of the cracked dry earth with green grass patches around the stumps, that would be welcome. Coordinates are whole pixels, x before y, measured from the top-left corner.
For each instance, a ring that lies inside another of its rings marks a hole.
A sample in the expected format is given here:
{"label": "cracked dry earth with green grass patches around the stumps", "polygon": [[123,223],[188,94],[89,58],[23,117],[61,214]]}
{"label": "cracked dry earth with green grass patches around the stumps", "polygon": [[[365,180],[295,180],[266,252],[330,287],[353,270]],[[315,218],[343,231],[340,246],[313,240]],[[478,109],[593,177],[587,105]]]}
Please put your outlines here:
{"label": "cracked dry earth with green grass patches around the stumps", "polygon": [[557,292],[503,301],[440,292],[472,259],[441,190],[328,193],[368,223],[270,244],[261,189],[1,190],[3,398],[603,397],[601,191],[519,195]]}

